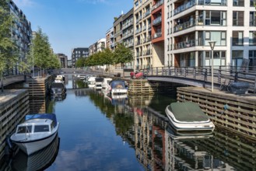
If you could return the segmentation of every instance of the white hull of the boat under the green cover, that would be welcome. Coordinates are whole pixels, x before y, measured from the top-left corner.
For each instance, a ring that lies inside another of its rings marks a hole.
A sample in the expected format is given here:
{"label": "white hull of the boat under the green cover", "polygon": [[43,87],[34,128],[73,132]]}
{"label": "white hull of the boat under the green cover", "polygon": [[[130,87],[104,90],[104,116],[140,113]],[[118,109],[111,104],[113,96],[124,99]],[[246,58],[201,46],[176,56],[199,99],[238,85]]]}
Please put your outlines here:
{"label": "white hull of the boat under the green cover", "polygon": [[170,124],[177,133],[182,132],[205,132],[205,133],[212,133],[214,131],[214,124],[212,124],[211,120],[203,121],[203,122],[179,122],[174,117],[174,114],[168,109],[168,106],[165,110],[167,113],[167,117],[170,120]]}

